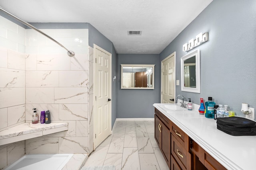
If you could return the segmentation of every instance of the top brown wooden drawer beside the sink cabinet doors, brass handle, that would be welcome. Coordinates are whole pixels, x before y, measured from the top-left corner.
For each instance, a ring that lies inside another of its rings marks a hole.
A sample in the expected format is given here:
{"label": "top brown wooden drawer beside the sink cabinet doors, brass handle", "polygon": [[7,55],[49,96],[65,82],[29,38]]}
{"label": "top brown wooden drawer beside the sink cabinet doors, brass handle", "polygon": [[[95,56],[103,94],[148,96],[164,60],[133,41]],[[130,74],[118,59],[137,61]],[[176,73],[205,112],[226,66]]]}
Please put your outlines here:
{"label": "top brown wooden drawer beside the sink cabinet doors, brass handle", "polygon": [[177,125],[171,123],[171,133],[172,135],[179,141],[179,143],[189,151],[189,142],[188,142],[188,135],[184,133]]}

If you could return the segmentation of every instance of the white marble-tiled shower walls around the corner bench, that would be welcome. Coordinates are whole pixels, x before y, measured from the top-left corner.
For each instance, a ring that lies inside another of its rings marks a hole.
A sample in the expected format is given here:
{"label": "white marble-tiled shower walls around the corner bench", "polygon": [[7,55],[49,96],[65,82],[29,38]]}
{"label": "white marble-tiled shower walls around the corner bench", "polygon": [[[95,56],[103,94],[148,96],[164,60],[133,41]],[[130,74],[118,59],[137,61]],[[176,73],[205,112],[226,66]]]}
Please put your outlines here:
{"label": "white marble-tiled shower walls around the corner bench", "polygon": [[93,50],[88,29],[40,30],[76,55],[69,57],[50,39],[0,16],[0,131],[30,122],[33,108],[39,114],[50,110],[52,122],[68,122],[68,131],[0,146],[0,169],[25,153],[87,154],[92,150],[89,131],[93,129],[88,127],[92,127],[89,51],[92,57]]}

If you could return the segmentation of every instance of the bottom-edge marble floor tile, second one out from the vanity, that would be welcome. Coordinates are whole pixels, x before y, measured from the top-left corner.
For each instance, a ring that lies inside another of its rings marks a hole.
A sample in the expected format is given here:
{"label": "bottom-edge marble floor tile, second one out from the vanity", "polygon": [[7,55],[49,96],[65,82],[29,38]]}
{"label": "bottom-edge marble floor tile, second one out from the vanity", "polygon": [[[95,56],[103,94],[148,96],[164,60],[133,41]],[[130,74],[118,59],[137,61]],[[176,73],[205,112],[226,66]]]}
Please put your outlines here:
{"label": "bottom-edge marble floor tile, second one out from the vanity", "polygon": [[142,170],[160,170],[154,153],[139,154]]}

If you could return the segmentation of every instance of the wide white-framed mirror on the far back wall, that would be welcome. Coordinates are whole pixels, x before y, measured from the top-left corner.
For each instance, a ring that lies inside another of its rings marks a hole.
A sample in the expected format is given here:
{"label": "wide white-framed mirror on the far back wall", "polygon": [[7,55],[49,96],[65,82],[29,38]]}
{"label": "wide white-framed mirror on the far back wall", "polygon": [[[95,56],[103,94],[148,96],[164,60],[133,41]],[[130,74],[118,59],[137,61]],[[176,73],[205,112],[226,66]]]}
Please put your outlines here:
{"label": "wide white-framed mirror on the far back wall", "polygon": [[154,89],[154,64],[121,64],[121,89]]}

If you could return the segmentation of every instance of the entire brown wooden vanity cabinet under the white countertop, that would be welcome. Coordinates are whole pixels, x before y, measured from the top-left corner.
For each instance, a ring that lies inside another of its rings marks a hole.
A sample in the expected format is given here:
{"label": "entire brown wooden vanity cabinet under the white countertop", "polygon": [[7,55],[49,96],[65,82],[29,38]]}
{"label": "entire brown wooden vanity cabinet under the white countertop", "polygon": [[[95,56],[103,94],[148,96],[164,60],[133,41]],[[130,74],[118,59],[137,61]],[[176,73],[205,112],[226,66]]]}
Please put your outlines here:
{"label": "entire brown wooden vanity cabinet under the white countertop", "polygon": [[155,139],[170,170],[226,170],[155,108]]}

